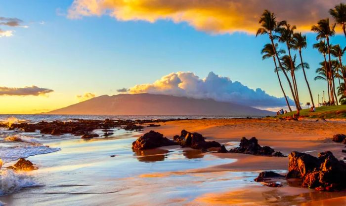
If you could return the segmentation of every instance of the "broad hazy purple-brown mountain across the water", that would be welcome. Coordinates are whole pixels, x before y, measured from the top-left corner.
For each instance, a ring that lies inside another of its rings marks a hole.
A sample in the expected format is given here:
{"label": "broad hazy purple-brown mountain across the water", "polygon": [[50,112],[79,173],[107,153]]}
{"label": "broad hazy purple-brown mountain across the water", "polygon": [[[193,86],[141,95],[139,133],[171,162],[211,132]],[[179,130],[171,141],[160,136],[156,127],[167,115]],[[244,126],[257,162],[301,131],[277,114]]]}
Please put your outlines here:
{"label": "broad hazy purple-brown mountain across the water", "polygon": [[273,112],[235,103],[153,94],[103,95],[46,114],[265,116]]}

